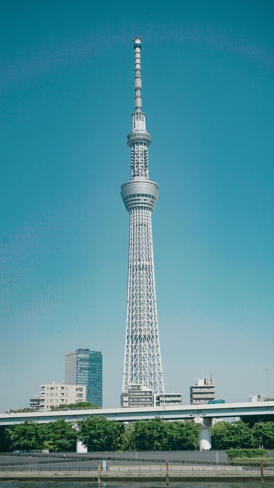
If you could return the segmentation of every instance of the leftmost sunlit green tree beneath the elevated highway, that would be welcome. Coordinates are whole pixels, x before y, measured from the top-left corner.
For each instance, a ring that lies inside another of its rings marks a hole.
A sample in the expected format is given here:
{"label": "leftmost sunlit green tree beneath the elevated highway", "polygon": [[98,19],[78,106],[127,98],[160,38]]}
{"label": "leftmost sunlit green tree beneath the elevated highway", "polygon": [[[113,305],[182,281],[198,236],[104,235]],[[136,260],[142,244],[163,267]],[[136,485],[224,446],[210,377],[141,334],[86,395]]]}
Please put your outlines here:
{"label": "leftmost sunlit green tree beneath the elevated highway", "polygon": [[43,425],[31,421],[26,421],[24,424],[12,425],[6,429],[11,450],[28,451],[31,449],[43,449],[45,440],[43,431]]}

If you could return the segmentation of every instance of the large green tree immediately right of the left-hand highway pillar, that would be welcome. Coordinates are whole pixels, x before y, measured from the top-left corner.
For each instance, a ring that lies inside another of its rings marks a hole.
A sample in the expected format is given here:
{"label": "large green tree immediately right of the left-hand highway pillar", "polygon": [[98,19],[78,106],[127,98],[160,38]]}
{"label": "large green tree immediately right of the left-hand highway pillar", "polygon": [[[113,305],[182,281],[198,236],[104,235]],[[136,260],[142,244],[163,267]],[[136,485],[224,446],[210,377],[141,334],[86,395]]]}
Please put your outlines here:
{"label": "large green tree immediately right of the left-hand highway pillar", "polygon": [[78,426],[78,437],[89,451],[116,451],[121,448],[124,424],[91,415]]}

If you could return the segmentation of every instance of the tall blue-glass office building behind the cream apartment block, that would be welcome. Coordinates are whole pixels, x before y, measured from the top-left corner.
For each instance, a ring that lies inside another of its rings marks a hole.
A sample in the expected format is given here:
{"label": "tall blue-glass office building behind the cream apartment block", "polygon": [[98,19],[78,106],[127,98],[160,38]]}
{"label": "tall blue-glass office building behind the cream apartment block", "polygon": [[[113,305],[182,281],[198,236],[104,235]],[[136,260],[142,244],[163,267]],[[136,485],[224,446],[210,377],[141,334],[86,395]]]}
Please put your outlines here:
{"label": "tall blue-glass office building behind the cream apartment block", "polygon": [[65,380],[86,387],[86,401],[102,408],[102,354],[76,349],[66,353]]}

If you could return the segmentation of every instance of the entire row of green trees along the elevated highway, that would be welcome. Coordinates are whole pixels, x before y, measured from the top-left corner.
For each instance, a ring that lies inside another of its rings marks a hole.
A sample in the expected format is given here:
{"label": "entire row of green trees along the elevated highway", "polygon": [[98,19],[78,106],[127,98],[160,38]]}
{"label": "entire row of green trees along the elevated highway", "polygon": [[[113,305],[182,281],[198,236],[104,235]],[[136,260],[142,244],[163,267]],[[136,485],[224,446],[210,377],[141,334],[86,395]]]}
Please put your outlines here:
{"label": "entire row of green trees along the elevated highway", "polygon": [[[0,451],[50,449],[75,451],[80,438],[89,451],[193,450],[199,447],[199,427],[193,421],[167,422],[161,418],[123,424],[91,415],[73,423],[58,420],[49,424],[25,422],[0,428]],[[274,421],[250,427],[243,421],[218,422],[211,429],[212,449],[274,449]]]}

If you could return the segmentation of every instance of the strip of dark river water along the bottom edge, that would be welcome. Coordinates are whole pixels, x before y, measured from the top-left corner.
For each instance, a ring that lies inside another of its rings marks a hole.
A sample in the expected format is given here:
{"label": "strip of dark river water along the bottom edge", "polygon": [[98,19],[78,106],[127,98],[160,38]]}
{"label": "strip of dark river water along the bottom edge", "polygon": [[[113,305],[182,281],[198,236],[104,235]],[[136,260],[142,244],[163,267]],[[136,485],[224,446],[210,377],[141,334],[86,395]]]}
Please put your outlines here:
{"label": "strip of dark river water along the bottom edge", "polygon": [[[265,488],[274,488],[274,481],[265,481]],[[0,481],[0,488],[98,488],[97,483],[86,481]],[[109,482],[102,483],[101,488],[166,488],[165,483],[156,482]],[[262,488],[257,481],[235,481],[235,482],[174,482],[170,488]]]}

